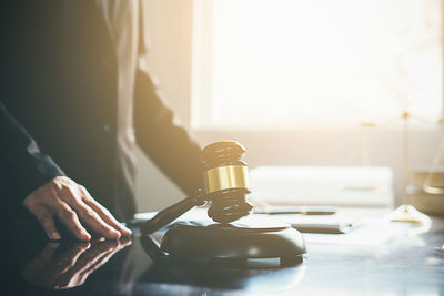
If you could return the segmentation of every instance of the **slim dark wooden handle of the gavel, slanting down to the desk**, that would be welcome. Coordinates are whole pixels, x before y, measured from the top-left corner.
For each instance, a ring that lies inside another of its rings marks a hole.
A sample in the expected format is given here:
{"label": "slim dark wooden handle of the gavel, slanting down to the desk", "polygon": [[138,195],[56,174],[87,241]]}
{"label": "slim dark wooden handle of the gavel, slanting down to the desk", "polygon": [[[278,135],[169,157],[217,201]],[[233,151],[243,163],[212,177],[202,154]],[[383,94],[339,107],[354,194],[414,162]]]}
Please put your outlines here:
{"label": "slim dark wooden handle of the gavel, slanting down to the desk", "polygon": [[142,225],[142,234],[151,234],[159,231],[194,206],[202,204],[202,194],[201,192],[198,192],[195,196],[186,197],[179,203],[160,211],[153,218],[147,221]]}

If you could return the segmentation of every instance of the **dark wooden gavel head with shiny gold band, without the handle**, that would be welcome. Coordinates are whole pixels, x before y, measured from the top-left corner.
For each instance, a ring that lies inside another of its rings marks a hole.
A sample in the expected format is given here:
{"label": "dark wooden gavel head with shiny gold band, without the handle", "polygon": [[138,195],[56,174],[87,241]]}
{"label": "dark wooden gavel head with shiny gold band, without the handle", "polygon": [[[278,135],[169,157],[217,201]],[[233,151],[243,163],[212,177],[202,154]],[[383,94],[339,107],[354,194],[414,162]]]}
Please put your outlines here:
{"label": "dark wooden gavel head with shiny gold band, without the handle", "polygon": [[238,142],[215,142],[204,147],[205,198],[211,201],[208,215],[219,223],[230,223],[250,214],[245,201],[250,193],[245,149]]}

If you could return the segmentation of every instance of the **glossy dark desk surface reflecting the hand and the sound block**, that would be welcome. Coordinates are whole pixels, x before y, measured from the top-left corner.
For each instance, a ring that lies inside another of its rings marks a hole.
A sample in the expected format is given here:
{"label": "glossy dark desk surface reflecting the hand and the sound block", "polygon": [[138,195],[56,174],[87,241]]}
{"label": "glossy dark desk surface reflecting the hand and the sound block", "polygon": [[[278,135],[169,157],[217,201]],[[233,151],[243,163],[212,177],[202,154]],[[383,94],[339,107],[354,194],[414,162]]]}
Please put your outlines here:
{"label": "glossy dark desk surface reflecting the hand and the sound block", "polygon": [[430,229],[397,224],[395,232],[393,223],[380,225],[376,237],[365,227],[307,234],[302,264],[268,268],[172,264],[137,229],[131,241],[92,244],[46,242],[32,232],[3,251],[0,294],[444,295],[444,218],[432,222]]}

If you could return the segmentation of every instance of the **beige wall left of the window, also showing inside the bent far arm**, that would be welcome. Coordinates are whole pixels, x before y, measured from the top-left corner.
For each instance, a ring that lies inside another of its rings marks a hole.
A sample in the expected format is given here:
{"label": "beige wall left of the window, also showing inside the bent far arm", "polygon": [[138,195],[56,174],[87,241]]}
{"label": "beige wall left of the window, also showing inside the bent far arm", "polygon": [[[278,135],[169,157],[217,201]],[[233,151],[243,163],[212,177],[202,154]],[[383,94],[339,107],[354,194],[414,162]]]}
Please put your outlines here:
{"label": "beige wall left of the window, also showing inside the bent far arm", "polygon": [[[192,0],[143,0],[144,28],[150,37],[147,65],[181,121],[190,122]],[[138,211],[162,207],[184,197],[183,193],[138,151]]]}

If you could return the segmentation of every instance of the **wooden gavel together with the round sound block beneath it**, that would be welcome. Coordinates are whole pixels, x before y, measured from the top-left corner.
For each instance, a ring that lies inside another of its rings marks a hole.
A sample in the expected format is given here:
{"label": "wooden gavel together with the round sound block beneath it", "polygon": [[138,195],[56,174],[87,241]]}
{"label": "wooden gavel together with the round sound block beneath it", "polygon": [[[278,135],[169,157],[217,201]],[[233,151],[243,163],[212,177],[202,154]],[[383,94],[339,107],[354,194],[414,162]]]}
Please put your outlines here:
{"label": "wooden gavel together with the round sound block beneath it", "polygon": [[206,258],[281,258],[300,261],[306,252],[301,233],[286,224],[241,221],[252,206],[248,165],[242,160],[245,149],[234,141],[216,142],[202,152],[205,188],[198,190],[176,204],[159,212],[141,227],[151,234],[167,226],[194,206],[210,203],[209,217],[213,222],[176,223],[163,236],[161,251],[170,257]]}

